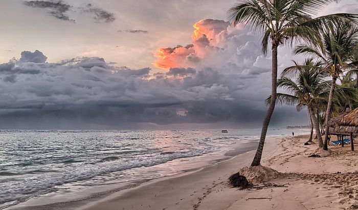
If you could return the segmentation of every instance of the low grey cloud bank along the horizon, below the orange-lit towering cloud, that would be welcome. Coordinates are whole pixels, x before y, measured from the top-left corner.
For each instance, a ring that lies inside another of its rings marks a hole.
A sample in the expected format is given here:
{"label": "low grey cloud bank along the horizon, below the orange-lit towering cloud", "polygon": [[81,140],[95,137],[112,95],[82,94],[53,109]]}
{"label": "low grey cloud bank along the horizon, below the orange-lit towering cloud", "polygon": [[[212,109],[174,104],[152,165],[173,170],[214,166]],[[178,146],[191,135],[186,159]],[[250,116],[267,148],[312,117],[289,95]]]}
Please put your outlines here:
{"label": "low grey cloud bank along the horizon, below the orange-lit towering cloud", "polygon": [[[248,77],[230,65],[172,68],[153,77],[149,68],[114,67],[98,57],[45,61],[41,52],[25,51],[18,60],[0,65],[0,128],[138,128],[138,123],[219,121],[250,126],[264,114],[266,92],[257,91],[262,88],[257,81],[267,75]],[[250,85],[255,82],[257,88]],[[183,110],[184,116],[177,114]]]}

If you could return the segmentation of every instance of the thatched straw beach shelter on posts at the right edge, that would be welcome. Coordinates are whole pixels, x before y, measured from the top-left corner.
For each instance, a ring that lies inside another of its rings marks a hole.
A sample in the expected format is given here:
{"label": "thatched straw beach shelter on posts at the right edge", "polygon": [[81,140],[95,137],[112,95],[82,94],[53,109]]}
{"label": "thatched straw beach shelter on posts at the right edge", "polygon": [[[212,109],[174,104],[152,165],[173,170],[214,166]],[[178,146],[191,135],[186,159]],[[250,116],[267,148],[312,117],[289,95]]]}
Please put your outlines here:
{"label": "thatched straw beach shelter on posts at the right edge", "polygon": [[350,136],[351,150],[354,151],[353,134],[358,134],[358,108],[333,118],[328,125],[331,134]]}

